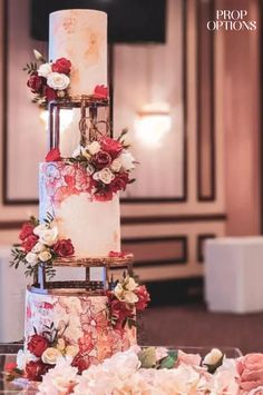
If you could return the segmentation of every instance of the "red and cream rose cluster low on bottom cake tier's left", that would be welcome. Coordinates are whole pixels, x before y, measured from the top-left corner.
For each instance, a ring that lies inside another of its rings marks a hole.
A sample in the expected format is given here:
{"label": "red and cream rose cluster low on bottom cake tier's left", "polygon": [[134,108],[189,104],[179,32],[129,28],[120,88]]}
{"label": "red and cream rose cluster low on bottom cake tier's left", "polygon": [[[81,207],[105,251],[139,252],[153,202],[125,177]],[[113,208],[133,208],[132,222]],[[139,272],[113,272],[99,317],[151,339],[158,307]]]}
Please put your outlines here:
{"label": "red and cream rose cluster low on bottom cake tier's left", "polygon": [[35,333],[30,336],[26,350],[18,352],[13,373],[17,375],[20,373],[20,376],[29,381],[40,382],[42,375],[53,368],[60,359],[66,358],[71,363],[79,349],[78,346],[68,344],[62,335],[64,332],[59,334],[51,324],[42,334]]}

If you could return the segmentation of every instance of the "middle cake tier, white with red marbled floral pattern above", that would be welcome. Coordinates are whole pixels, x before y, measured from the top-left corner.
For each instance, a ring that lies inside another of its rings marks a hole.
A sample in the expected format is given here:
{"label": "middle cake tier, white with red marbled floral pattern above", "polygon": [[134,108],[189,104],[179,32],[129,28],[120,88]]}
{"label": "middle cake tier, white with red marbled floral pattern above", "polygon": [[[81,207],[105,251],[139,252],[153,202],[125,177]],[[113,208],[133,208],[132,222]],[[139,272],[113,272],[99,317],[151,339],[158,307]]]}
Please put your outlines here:
{"label": "middle cake tier, white with red marbled floral pattern above", "polygon": [[60,238],[70,238],[77,257],[108,256],[120,250],[119,198],[96,201],[90,178],[78,164],[40,164],[39,217],[51,214]]}

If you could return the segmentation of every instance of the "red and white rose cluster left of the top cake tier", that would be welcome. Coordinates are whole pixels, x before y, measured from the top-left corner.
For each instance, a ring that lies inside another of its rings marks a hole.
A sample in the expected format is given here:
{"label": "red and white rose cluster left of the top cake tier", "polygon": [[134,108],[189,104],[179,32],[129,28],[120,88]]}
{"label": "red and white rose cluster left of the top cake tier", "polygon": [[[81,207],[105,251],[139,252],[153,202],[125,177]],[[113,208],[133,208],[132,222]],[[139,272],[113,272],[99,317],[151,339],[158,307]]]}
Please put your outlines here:
{"label": "red and white rose cluster left of the top cake tier", "polygon": [[27,63],[29,73],[27,86],[36,95],[35,102],[47,105],[48,101],[66,98],[70,85],[71,62],[66,58],[47,62],[41,53],[33,51],[37,63]]}

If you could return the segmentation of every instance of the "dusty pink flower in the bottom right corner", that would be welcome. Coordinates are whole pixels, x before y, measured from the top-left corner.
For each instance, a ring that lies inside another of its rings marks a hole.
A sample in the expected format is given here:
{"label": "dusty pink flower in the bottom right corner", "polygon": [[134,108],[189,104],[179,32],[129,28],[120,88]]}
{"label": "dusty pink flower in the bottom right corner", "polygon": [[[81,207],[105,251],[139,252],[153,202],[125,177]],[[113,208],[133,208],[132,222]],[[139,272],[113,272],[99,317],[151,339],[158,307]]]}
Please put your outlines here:
{"label": "dusty pink flower in the bottom right corner", "polygon": [[263,354],[247,354],[237,359],[240,387],[251,391],[263,385]]}

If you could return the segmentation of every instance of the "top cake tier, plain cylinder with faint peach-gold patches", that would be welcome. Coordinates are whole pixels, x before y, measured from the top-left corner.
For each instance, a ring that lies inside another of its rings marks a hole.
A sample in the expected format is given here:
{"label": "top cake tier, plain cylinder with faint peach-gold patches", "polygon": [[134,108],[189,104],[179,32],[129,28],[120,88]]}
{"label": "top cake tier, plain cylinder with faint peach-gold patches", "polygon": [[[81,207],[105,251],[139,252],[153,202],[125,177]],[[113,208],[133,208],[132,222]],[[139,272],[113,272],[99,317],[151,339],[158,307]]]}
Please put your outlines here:
{"label": "top cake tier, plain cylinder with faint peach-gold patches", "polygon": [[61,10],[50,13],[49,60],[71,61],[72,97],[92,95],[107,86],[107,14],[95,10]]}

